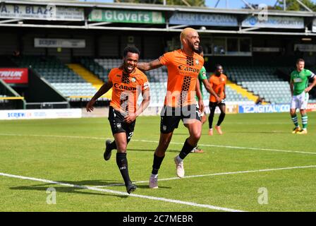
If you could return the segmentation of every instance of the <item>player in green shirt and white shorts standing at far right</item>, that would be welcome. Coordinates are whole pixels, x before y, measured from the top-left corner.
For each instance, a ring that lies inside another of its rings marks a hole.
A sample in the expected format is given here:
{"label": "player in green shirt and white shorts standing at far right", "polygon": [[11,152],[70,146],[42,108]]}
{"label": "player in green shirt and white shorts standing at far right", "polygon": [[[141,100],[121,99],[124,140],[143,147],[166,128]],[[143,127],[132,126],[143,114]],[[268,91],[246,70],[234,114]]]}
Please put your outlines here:
{"label": "player in green shirt and white shorts standing at far right", "polygon": [[[296,61],[296,70],[291,73],[291,118],[295,125],[292,133],[306,134],[308,133],[308,115],[306,114],[306,108],[308,107],[308,92],[316,85],[316,76],[312,71],[304,69],[305,61],[298,59]],[[308,86],[308,79],[314,78],[312,84]],[[296,109],[300,109],[300,115],[302,116],[303,129],[298,126],[298,117],[296,115]]]}

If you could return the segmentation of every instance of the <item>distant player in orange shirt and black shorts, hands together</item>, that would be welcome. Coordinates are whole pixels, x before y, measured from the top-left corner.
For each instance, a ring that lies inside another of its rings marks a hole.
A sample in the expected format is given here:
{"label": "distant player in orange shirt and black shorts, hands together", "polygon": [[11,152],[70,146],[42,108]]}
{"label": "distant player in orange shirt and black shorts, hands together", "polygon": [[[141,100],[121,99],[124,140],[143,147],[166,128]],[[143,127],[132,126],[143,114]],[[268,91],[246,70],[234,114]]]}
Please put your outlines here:
{"label": "distant player in orange shirt and black shorts, hands together", "polygon": [[214,95],[209,95],[209,135],[213,135],[213,118],[214,118],[214,112],[216,107],[218,106],[221,110],[221,114],[219,114],[219,120],[217,121],[217,124],[215,126],[215,129],[217,132],[221,135],[223,132],[221,131],[221,122],[224,121],[225,114],[226,114],[226,105],[225,105],[225,85],[226,85],[227,78],[223,73],[223,67],[219,64],[216,66],[215,73],[209,77],[209,84],[213,88],[214,92],[217,93],[219,98],[221,99],[220,102],[218,102],[217,98],[214,97]]}

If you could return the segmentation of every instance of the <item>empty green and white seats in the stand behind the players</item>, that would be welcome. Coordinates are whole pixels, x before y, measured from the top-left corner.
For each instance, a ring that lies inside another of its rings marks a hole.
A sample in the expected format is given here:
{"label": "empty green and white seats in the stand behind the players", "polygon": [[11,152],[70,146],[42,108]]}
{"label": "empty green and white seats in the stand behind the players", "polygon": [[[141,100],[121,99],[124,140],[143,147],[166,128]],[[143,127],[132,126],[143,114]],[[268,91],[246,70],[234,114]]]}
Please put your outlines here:
{"label": "empty green and white seats in the stand behind the players", "polygon": [[[48,81],[56,90],[71,101],[89,100],[97,89],[92,83],[78,76],[68,66],[56,57],[26,56],[12,58],[19,66],[35,69],[42,78]],[[109,71],[120,66],[121,59],[93,59],[91,57],[79,57],[80,62],[86,69],[94,73],[103,82],[108,81]],[[141,59],[140,61],[152,61]],[[291,92],[287,81],[275,74],[277,67],[271,66],[226,66],[228,78],[234,83],[241,85],[254,95],[265,98],[272,104],[288,103],[291,100]],[[285,68],[283,70],[286,70]],[[287,68],[288,70],[288,68]],[[167,71],[165,67],[146,72],[151,85],[151,105],[159,105],[166,95]],[[209,73],[207,73],[209,75]],[[204,100],[209,100],[209,93],[204,89]],[[81,96],[81,97],[78,97]],[[106,98],[102,98],[105,100]],[[236,92],[226,85],[227,102],[248,102],[248,97]],[[311,99],[310,102],[316,102]]]}

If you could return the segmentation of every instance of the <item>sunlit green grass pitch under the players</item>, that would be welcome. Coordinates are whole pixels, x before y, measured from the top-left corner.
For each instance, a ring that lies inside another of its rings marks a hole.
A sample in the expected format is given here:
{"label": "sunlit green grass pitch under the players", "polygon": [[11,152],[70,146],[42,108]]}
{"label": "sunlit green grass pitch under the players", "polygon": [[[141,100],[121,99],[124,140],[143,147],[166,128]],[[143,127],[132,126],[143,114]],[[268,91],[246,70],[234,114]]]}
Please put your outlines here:
{"label": "sunlit green grass pitch under the players", "polygon": [[[207,136],[206,123],[200,139],[205,153],[191,153],[186,158],[186,176],[316,165],[316,155],[312,154],[316,154],[316,114],[309,112],[308,116],[307,135],[291,133],[289,114],[227,115],[221,125],[222,136],[216,131],[214,136]],[[149,179],[159,140],[159,120],[137,119],[127,155],[133,182]],[[123,182],[116,166],[116,151],[111,160],[103,160],[105,138],[112,137],[106,118],[0,121],[0,133],[1,173],[83,186]],[[176,177],[173,159],[187,136],[181,123],[159,170],[159,179]],[[171,179],[160,181],[159,189],[148,189],[148,183],[139,183],[134,194],[236,210],[315,211],[315,172],[316,167],[311,167]],[[49,187],[56,189],[56,205],[47,204]],[[265,205],[258,203],[258,189],[262,187],[268,191]],[[126,192],[125,186],[104,189]],[[216,211],[4,176],[0,176],[0,203],[1,211]]]}

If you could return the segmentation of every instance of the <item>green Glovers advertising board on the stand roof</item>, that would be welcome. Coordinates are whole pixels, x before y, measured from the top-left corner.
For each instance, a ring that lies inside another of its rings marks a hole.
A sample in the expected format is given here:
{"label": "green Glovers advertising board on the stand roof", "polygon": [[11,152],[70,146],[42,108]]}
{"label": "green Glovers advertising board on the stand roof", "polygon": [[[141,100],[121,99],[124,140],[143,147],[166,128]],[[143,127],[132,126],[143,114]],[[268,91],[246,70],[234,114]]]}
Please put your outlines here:
{"label": "green Glovers advertising board on the stand roof", "polygon": [[89,21],[111,23],[165,23],[162,12],[100,9],[95,9],[90,13]]}

